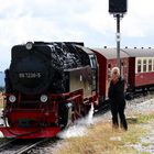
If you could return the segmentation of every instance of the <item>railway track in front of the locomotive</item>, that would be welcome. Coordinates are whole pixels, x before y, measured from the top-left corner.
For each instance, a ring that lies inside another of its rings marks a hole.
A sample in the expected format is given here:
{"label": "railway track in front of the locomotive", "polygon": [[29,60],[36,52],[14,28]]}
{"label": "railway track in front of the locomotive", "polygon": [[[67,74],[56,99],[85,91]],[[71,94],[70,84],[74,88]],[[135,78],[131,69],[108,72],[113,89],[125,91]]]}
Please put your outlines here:
{"label": "railway track in front of the locomotive", "polygon": [[9,140],[0,145],[0,154],[24,154],[35,146],[47,142],[48,139],[41,140]]}

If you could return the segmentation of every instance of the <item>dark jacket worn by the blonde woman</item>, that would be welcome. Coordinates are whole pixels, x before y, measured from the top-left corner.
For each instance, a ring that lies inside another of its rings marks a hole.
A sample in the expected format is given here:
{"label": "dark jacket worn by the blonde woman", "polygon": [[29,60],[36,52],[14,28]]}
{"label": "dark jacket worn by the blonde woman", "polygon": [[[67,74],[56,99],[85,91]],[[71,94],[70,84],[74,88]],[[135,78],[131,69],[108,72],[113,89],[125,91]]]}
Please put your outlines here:
{"label": "dark jacket worn by the blonde woman", "polygon": [[109,91],[108,91],[109,99],[111,103],[124,103],[124,79],[119,78],[117,84],[113,84],[111,80]]}

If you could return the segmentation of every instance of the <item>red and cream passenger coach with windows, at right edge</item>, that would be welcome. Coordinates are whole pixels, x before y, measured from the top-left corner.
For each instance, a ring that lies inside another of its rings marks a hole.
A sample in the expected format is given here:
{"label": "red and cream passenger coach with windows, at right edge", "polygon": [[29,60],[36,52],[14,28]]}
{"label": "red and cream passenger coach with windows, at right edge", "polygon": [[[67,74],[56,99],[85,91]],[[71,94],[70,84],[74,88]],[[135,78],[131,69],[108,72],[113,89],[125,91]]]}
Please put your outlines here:
{"label": "red and cream passenger coach with windows, at right edge", "polygon": [[153,48],[124,48],[129,58],[129,88],[150,89],[154,86],[154,50]]}

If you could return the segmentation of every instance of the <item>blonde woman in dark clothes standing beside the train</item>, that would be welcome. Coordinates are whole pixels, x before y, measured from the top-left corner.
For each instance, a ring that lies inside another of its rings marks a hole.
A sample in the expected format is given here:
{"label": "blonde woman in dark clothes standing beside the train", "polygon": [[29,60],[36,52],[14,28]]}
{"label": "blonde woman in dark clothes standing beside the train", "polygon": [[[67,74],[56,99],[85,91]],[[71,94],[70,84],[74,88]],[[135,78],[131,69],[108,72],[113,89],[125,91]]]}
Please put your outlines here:
{"label": "blonde woman in dark clothes standing beside the train", "polygon": [[109,100],[111,102],[112,125],[119,128],[118,116],[120,117],[120,125],[123,130],[128,130],[128,123],[124,116],[124,79],[120,76],[120,69],[113,67],[111,70],[111,82],[109,87]]}

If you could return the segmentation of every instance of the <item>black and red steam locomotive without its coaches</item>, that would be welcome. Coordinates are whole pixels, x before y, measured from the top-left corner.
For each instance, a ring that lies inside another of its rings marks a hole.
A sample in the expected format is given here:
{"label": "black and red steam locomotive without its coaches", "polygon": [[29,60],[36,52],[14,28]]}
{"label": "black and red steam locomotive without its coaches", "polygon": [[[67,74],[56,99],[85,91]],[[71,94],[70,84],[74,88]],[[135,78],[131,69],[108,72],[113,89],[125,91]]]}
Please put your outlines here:
{"label": "black and red steam locomotive without its coaches", "polygon": [[55,136],[97,103],[96,77],[95,54],[84,43],[13,46],[0,131],[7,138]]}

